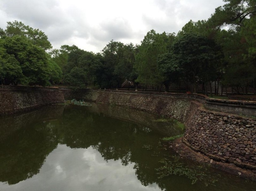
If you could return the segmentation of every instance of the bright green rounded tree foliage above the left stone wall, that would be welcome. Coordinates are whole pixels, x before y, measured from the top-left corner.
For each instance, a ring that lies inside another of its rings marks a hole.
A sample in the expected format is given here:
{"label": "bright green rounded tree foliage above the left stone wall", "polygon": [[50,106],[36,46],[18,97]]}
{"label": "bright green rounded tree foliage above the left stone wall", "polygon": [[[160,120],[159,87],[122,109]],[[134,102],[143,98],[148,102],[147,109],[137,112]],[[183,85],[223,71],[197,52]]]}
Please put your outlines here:
{"label": "bright green rounded tree foliage above the left stone wall", "polygon": [[18,35],[6,36],[1,38],[1,41],[1,57],[5,58],[3,84],[49,84],[49,63],[43,49],[33,45],[26,37]]}

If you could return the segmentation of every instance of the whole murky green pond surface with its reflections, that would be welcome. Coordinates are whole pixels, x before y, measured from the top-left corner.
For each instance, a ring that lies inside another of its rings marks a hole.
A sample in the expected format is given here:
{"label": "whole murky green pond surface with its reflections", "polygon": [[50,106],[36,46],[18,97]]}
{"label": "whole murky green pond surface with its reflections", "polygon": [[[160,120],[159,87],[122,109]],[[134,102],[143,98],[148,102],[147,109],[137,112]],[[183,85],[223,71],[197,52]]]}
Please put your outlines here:
{"label": "whole murky green pond surface with its reflections", "polygon": [[160,141],[182,133],[172,120],[96,104],[0,117],[0,191],[256,189]]}

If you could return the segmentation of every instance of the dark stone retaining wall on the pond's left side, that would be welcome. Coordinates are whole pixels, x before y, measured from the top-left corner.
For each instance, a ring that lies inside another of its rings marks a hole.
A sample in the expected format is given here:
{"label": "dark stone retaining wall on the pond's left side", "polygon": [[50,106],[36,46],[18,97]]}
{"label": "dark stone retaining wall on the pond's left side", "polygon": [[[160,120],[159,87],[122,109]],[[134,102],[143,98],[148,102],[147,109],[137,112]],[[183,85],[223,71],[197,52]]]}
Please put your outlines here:
{"label": "dark stone retaining wall on the pond's left side", "polygon": [[64,101],[64,96],[58,88],[0,86],[0,115]]}

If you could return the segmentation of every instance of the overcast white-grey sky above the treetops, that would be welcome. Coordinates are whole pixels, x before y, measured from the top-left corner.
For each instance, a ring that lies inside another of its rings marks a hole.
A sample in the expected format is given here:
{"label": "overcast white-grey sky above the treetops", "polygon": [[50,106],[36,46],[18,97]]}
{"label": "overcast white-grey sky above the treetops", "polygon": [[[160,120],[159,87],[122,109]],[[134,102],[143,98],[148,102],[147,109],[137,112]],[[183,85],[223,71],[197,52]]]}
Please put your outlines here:
{"label": "overcast white-grey sky above the treetops", "polygon": [[48,36],[53,48],[73,44],[100,52],[110,40],[140,44],[151,29],[177,33],[208,19],[223,0],[0,0],[0,27],[18,20]]}

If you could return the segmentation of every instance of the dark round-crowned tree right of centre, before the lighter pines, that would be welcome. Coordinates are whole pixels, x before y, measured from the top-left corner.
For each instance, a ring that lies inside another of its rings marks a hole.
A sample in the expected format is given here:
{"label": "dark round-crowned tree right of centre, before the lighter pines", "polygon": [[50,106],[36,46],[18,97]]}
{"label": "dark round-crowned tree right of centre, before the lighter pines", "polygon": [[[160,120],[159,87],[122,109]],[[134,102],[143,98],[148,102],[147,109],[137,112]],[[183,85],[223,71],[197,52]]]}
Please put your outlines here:
{"label": "dark round-crowned tree right of centre, before the lighter pines", "polygon": [[186,33],[176,39],[172,46],[174,60],[182,68],[183,75],[189,81],[191,91],[197,92],[197,83],[201,78],[211,81],[216,74],[219,48],[214,41],[197,33]]}

